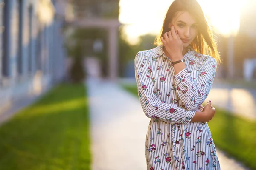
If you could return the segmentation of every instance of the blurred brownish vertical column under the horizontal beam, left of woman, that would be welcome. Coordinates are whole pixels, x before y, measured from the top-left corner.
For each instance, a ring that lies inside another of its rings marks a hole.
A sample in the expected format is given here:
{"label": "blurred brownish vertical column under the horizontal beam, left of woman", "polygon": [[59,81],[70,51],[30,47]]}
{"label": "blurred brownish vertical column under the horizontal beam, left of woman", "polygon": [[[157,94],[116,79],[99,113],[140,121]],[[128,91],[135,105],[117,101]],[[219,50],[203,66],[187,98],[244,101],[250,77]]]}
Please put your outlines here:
{"label": "blurred brownish vertical column under the horizontal beam, left of woman", "polygon": [[118,76],[118,27],[110,27],[108,36],[109,77],[116,81]]}

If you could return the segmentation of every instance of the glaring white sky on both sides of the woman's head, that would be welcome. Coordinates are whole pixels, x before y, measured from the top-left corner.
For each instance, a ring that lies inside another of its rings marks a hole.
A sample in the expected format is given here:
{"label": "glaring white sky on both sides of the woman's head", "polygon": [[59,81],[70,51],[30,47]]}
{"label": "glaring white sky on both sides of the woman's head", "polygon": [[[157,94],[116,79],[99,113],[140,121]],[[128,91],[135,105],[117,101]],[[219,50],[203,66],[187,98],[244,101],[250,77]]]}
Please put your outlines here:
{"label": "glaring white sky on both sides of the woman's head", "polygon": [[[131,44],[143,34],[158,35],[173,0],[120,0],[119,21]],[[239,30],[240,9],[246,0],[198,0],[209,22],[220,34],[229,36]]]}

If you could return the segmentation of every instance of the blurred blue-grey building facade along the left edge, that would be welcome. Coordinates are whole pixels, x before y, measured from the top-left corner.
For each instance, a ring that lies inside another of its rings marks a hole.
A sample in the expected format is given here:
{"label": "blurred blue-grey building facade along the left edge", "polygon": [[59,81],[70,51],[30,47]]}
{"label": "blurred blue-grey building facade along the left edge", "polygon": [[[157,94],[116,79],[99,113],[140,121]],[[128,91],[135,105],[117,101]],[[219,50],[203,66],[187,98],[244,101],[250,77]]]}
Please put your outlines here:
{"label": "blurred blue-grey building facade along the left edge", "polygon": [[64,77],[65,0],[0,0],[0,112]]}

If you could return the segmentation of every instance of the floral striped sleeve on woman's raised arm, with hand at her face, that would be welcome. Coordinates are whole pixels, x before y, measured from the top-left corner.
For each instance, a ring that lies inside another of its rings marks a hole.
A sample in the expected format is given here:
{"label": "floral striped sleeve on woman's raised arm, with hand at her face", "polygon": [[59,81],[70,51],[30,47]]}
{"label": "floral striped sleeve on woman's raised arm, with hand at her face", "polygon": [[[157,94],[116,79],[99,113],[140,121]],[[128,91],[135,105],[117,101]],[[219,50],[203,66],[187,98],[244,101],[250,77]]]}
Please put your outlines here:
{"label": "floral striped sleeve on woman's raised arm, with hand at her face", "polygon": [[189,72],[186,68],[175,75],[177,96],[188,110],[196,110],[207,98],[215,76],[217,62],[214,58],[204,56],[203,66],[198,71]]}

